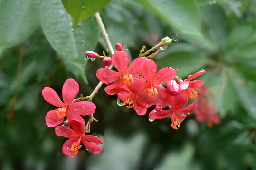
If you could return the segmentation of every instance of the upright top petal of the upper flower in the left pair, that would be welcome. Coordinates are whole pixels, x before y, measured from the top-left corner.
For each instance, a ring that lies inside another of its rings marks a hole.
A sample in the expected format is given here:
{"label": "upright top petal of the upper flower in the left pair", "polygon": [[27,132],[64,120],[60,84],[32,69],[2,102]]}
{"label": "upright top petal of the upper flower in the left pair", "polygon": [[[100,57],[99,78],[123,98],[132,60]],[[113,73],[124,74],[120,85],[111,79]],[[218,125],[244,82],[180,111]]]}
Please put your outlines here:
{"label": "upright top petal of the upper flower in the left pair", "polygon": [[79,92],[79,85],[73,79],[67,79],[62,87],[62,97],[66,105],[70,104]]}

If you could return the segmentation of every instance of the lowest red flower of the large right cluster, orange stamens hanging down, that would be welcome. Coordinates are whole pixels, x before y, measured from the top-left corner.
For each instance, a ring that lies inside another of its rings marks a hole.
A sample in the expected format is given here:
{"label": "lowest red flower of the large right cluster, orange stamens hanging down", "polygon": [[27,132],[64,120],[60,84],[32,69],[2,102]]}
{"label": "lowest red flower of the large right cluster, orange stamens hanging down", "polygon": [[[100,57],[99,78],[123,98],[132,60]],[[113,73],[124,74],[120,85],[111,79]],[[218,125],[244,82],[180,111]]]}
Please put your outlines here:
{"label": "lowest red flower of the large right cluster, orange stamens hanging down", "polygon": [[170,110],[153,110],[149,114],[149,118],[162,119],[171,116],[171,127],[174,129],[178,129],[180,127],[180,123],[187,117],[187,115],[185,114],[191,114],[193,110],[197,107],[197,102],[194,102],[185,107],[184,109],[181,109],[183,106],[186,105],[187,101],[188,95],[186,93],[180,93],[176,96],[172,96]]}

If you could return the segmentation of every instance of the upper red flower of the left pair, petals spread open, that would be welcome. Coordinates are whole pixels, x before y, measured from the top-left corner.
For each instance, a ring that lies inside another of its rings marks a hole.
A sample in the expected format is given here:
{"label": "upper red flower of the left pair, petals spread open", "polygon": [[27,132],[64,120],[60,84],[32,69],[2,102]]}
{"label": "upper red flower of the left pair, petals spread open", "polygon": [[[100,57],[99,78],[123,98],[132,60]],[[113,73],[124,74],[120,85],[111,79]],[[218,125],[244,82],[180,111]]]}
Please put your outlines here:
{"label": "upper red flower of the left pair, petals spread open", "polygon": [[60,100],[59,96],[52,88],[45,87],[42,90],[44,99],[48,103],[59,107],[58,109],[50,110],[47,113],[45,120],[48,127],[59,125],[63,122],[65,116],[67,117],[68,122],[77,119],[85,124],[85,120],[79,115],[87,116],[95,113],[96,106],[94,103],[88,101],[73,102],[78,91],[79,85],[73,79],[67,79],[62,87],[64,102]]}

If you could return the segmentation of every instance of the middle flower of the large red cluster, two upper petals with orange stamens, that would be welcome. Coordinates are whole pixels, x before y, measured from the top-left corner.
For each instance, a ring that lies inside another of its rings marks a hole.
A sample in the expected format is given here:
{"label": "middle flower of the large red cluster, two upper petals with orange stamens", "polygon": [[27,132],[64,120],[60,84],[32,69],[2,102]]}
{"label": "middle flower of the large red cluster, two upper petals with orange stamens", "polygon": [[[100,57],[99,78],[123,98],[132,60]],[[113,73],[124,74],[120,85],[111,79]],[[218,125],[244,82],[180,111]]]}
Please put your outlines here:
{"label": "middle flower of the large red cluster, two upper petals with orange stamens", "polygon": [[[176,76],[176,72],[172,68],[163,68],[157,72],[156,63],[147,59],[141,63],[142,76],[148,82],[148,96],[154,98],[158,94],[156,85],[166,83],[172,80]],[[160,86],[159,86],[160,87]]]}

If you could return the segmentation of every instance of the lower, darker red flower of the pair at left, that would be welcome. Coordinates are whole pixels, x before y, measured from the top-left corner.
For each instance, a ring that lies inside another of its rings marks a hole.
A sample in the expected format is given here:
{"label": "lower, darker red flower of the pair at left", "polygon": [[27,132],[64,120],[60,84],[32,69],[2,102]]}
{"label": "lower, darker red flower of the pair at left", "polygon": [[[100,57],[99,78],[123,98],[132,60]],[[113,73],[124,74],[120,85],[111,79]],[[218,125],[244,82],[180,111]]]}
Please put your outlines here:
{"label": "lower, darker red flower of the pair at left", "polygon": [[[66,126],[58,126],[55,128],[57,136],[63,136],[69,138],[62,146],[62,152],[70,157],[75,157],[82,147],[82,143],[85,147],[91,150],[93,153],[98,154],[101,152],[101,148],[97,144],[103,144],[103,141],[93,135],[85,135],[85,125],[77,120],[71,120],[70,125],[73,129]],[[96,144],[93,144],[93,143]]]}

